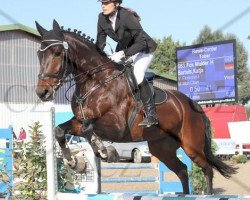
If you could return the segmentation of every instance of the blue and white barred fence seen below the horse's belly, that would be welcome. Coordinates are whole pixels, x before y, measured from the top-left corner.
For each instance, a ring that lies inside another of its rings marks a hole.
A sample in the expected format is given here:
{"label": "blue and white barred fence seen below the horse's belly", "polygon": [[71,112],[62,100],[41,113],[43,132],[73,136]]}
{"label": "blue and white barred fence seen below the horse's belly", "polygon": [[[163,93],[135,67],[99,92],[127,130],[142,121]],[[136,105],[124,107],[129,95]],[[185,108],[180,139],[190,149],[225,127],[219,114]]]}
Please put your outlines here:
{"label": "blue and white barred fence seen below the horse's belly", "polygon": [[[182,149],[178,149],[177,151],[177,156],[178,158],[184,162],[187,165],[187,168],[189,171],[192,169],[192,162],[190,158],[184,153]],[[119,163],[119,164],[103,164],[101,166],[102,170],[103,169],[108,169],[108,170],[116,170],[116,169],[156,169],[157,170],[157,175],[156,176],[129,176],[129,177],[115,177],[115,178],[107,178],[107,177],[102,177],[101,182],[102,183],[122,183],[122,182],[128,182],[131,183],[131,185],[135,183],[152,183],[155,182],[158,185],[157,190],[114,190],[114,189],[109,189],[105,190],[102,192],[120,192],[120,193],[138,193],[138,194],[164,194],[164,193],[182,193],[182,184],[179,180],[179,178],[170,170],[168,167],[165,166],[164,163],[159,162],[159,163],[142,163],[142,164],[133,164],[133,163]],[[127,173],[126,173],[127,174]],[[189,187],[190,187],[190,192],[192,192],[192,184],[191,181],[189,181]]]}

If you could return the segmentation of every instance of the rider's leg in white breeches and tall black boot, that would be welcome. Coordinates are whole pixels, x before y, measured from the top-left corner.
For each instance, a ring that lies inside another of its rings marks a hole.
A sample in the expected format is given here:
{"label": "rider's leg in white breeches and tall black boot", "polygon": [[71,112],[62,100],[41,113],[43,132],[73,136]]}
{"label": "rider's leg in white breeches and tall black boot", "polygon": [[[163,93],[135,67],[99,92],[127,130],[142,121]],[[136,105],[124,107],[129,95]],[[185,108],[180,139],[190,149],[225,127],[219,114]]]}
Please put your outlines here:
{"label": "rider's leg in white breeches and tall black boot", "polygon": [[145,72],[147,71],[150,63],[153,60],[152,53],[138,53],[133,56],[134,62],[134,74],[139,84],[140,96],[143,103],[145,118],[139,124],[139,126],[150,127],[158,124],[153,94],[147,80],[144,78]]}

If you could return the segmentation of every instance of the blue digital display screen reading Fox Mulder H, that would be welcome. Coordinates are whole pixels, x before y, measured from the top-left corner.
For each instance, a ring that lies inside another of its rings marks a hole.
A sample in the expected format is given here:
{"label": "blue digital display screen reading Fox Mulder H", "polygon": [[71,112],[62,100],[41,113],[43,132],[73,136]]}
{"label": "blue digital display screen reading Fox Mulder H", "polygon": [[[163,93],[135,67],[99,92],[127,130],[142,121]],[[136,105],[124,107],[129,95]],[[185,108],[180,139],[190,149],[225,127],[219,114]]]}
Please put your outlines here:
{"label": "blue digital display screen reading Fox Mulder H", "polygon": [[235,40],[177,48],[178,90],[199,104],[237,101]]}

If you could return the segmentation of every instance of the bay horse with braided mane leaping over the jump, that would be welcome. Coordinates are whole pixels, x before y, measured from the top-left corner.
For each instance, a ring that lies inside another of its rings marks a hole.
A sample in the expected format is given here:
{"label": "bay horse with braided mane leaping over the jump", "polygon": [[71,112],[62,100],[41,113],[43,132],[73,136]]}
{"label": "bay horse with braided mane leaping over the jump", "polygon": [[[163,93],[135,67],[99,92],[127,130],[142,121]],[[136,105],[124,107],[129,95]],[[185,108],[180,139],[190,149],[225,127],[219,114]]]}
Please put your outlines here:
{"label": "bay horse with braided mane leaping over the jump", "polygon": [[79,167],[80,161],[71,156],[65,134],[87,138],[92,135],[89,141],[96,137],[113,142],[147,141],[151,154],[178,176],[184,194],[189,194],[189,177],[186,165],[176,155],[180,147],[202,168],[207,194],[213,192],[213,168],[226,178],[236,173],[235,168],[213,155],[210,121],[196,102],[181,92],[166,90],[167,100],[156,106],[157,126],[139,127],[138,123],[143,118],[140,109],[128,127],[136,102],[124,71],[118,69],[93,41],[76,31],[61,29],[55,20],[50,31],[37,22],[36,27],[42,36],[38,50],[38,97],[42,101],[51,101],[69,74],[75,81],[71,100],[74,117],[55,128],[63,156],[72,168]]}

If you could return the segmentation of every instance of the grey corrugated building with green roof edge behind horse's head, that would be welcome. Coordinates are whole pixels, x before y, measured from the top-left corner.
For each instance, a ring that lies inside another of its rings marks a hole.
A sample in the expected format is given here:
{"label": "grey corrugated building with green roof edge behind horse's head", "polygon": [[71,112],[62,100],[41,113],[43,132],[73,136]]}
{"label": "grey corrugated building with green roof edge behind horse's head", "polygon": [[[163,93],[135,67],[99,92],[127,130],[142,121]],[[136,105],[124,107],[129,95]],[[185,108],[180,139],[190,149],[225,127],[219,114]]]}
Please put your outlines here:
{"label": "grey corrugated building with green roof edge behind horse's head", "polygon": [[[48,124],[51,103],[41,103],[35,94],[39,72],[37,50],[41,37],[32,28],[21,24],[0,26],[0,127],[13,126],[18,136],[24,127],[39,121]],[[70,110],[63,92],[60,92],[55,105],[58,110]],[[43,132],[51,131],[51,126],[43,126]]]}

